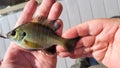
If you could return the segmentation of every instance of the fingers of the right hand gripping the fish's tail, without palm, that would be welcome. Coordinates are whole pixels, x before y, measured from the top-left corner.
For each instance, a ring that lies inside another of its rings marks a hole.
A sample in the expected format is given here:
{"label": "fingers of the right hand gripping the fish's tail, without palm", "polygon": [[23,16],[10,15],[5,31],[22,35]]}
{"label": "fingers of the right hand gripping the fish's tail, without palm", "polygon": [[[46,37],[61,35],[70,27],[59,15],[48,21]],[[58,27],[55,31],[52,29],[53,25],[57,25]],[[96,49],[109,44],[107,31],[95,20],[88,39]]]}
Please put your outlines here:
{"label": "fingers of the right hand gripping the fish's tail, without palm", "polygon": [[[99,25],[99,27],[98,27]],[[95,43],[96,35],[102,30],[102,24],[94,21],[88,21],[78,26],[75,26],[65,32],[62,36],[64,38],[75,38],[80,36],[81,39],[78,41],[74,54],[66,52],[63,47],[57,47],[59,55],[62,57],[70,56],[72,58],[90,56],[92,49],[91,47]]]}

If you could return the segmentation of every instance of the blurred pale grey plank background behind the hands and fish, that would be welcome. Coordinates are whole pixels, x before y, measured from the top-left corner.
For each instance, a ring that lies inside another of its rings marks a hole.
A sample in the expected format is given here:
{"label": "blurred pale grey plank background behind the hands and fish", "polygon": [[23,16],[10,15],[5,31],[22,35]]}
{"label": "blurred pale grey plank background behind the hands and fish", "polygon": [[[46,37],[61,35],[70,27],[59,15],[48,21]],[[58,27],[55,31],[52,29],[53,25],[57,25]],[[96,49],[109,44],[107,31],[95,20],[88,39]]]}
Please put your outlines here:
{"label": "blurred pale grey plank background behind the hands and fish", "polygon": [[[0,33],[14,28],[28,0],[0,0]],[[37,0],[40,4],[42,0]],[[120,0],[57,0],[63,5],[60,18],[64,22],[63,32],[72,26],[94,18],[120,16]],[[9,40],[0,38],[0,59],[9,47]],[[75,59],[58,57],[57,68],[70,68]]]}

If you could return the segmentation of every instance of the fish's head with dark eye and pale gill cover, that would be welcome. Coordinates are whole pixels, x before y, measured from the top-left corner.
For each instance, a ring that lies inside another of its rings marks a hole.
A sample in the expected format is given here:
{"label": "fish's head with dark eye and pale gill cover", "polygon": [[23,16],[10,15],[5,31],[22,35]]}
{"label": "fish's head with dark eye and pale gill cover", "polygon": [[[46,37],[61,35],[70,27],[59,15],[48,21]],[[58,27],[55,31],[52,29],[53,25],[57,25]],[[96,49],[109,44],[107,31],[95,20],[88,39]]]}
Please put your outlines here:
{"label": "fish's head with dark eye and pale gill cover", "polygon": [[25,36],[26,33],[22,29],[14,29],[7,33],[7,38],[17,43],[20,43]]}

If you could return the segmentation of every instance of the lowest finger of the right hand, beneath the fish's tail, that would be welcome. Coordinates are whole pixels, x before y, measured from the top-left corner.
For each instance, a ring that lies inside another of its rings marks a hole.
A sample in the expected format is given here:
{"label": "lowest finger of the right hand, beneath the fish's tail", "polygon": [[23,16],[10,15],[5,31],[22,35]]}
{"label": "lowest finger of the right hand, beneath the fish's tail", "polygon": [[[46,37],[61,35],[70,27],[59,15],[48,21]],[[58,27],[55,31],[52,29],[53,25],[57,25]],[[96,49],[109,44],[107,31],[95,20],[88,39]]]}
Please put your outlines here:
{"label": "lowest finger of the right hand, beneath the fish's tail", "polygon": [[92,49],[89,47],[79,47],[74,50],[74,54],[69,53],[67,51],[63,51],[63,52],[59,52],[58,55],[60,57],[71,57],[71,58],[91,57]]}

